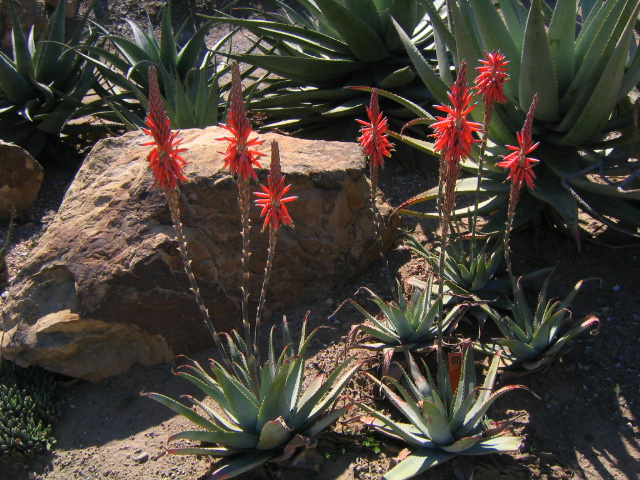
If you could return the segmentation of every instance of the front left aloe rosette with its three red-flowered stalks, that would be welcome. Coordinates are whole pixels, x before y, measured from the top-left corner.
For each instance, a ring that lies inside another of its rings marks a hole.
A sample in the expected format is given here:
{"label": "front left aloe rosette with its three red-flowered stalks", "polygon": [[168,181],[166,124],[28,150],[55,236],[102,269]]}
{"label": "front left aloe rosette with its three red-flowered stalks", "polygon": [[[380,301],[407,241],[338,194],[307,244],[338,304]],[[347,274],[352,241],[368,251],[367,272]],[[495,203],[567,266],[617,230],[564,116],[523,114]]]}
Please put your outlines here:
{"label": "front left aloe rosette with its three red-flowered stalks", "polygon": [[[232,100],[231,116],[227,130],[233,133],[227,149],[225,162],[231,171],[238,175],[240,186],[240,206],[243,215],[243,254],[248,259],[248,199],[249,182],[257,178],[254,167],[259,166],[259,152],[250,150],[250,146],[262,143],[249,140],[251,128],[242,106],[242,91],[239,84],[237,66],[233,68],[235,100]],[[268,461],[285,461],[300,448],[312,447],[313,437],[334,423],[344,412],[353,406],[345,402],[344,406],[334,408],[345,387],[360,369],[360,364],[352,365],[353,359],[347,359],[326,377],[319,374],[310,383],[305,382],[305,363],[307,347],[317,329],[306,333],[307,320],[302,326],[302,335],[294,345],[286,319],[283,320],[283,344],[281,352],[276,352],[273,342],[274,329],[271,330],[267,358],[261,361],[257,349],[260,316],[264,307],[264,297],[271,274],[271,265],[276,246],[277,233],[281,224],[293,226],[286,204],[296,197],[285,197],[290,186],[284,185],[280,169],[280,156],[277,143],[272,144],[271,172],[267,187],[257,192],[258,206],[262,207],[265,217],[263,230],[269,228],[269,252],[265,267],[265,278],[256,318],[254,344],[251,345],[251,329],[245,322],[245,339],[232,332],[224,334],[227,348],[222,346],[209,314],[207,312],[191,270],[187,256],[187,245],[182,234],[180,212],[178,209],[178,183],[186,180],[182,167],[186,162],[180,157],[184,148],[177,133],[171,133],[169,120],[162,108],[162,99],[157,88],[155,71],[150,70],[151,101],[147,119],[147,133],[154,137],[154,148],[149,155],[154,172],[155,185],[164,189],[169,208],[178,233],[180,252],[184,268],[191,282],[191,289],[205,316],[222,363],[212,360],[209,374],[197,362],[181,367],[177,372],[182,378],[196,385],[206,396],[199,401],[186,396],[194,407],[188,407],[172,398],[158,393],[143,393],[174,412],[183,415],[199,430],[188,430],[172,435],[172,440],[191,440],[202,442],[184,448],[170,449],[170,453],[182,455],[210,455],[223,458],[216,465],[210,480],[228,479],[240,475]],[[244,263],[245,268],[247,263]],[[248,285],[243,285],[243,302],[248,299]],[[246,317],[246,309],[244,310]],[[211,408],[211,404],[217,407]]]}

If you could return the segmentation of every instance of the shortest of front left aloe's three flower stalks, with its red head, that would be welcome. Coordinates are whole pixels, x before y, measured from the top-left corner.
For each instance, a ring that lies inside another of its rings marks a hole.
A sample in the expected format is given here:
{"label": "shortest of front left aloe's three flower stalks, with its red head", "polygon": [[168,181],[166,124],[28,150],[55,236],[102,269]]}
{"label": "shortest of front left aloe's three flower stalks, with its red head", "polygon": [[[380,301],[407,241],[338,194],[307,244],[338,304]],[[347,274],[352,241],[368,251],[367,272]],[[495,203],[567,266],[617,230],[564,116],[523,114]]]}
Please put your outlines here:
{"label": "shortest of front left aloe's three flower stalks, with its red head", "polygon": [[258,310],[256,312],[256,329],[253,337],[253,348],[257,352],[259,345],[260,322],[262,320],[262,311],[267,293],[267,286],[271,278],[271,269],[273,267],[273,255],[276,250],[278,241],[278,230],[280,224],[293,227],[293,221],[289,216],[286,204],[296,200],[298,197],[285,197],[284,195],[291,189],[291,185],[284,185],[284,175],[280,168],[280,149],[278,142],[271,142],[271,168],[268,178],[268,186],[261,185],[262,192],[254,192],[258,197],[255,200],[256,205],[262,207],[260,216],[264,217],[262,231],[269,229],[269,249],[267,251],[267,263],[264,268],[264,279],[262,281],[262,289],[260,291],[260,300],[258,301]]}

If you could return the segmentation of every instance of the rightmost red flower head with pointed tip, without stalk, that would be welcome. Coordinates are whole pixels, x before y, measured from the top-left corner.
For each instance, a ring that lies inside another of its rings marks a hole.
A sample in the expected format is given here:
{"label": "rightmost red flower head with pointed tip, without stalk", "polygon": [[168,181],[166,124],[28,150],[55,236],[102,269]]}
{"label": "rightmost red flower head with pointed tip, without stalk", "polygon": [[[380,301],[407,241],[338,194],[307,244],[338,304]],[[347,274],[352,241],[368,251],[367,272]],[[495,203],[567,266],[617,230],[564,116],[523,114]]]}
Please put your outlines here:
{"label": "rightmost red flower head with pointed tip, without stalk", "polygon": [[524,126],[522,130],[518,132],[518,147],[514,147],[512,145],[507,145],[509,150],[513,150],[512,153],[504,157],[504,161],[497,163],[499,167],[503,167],[509,169],[509,176],[507,180],[511,180],[513,184],[515,184],[518,188],[522,186],[524,182],[527,183],[527,186],[530,189],[534,189],[534,179],[536,175],[533,173],[533,167],[536,163],[539,163],[540,160],[535,158],[527,158],[531,152],[533,152],[540,143],[533,143],[532,139],[532,126],[533,126],[533,113],[536,110],[536,105],[538,104],[538,94],[536,93],[533,96],[533,101],[531,102],[531,106],[529,107],[529,112],[527,113],[527,119],[524,122]]}

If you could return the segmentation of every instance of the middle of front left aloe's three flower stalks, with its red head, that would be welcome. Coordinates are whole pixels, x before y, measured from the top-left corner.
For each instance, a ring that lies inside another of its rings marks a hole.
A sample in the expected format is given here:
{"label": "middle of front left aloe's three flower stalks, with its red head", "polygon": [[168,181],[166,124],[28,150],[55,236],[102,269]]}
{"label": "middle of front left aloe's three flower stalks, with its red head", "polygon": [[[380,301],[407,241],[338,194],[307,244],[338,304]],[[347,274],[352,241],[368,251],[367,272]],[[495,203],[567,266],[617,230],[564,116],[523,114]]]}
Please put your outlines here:
{"label": "middle of front left aloe's three flower stalks, with its red head", "polygon": [[236,176],[238,183],[238,203],[242,221],[242,326],[245,342],[250,345],[251,328],[249,326],[249,232],[251,223],[249,210],[251,208],[251,180],[258,180],[254,167],[260,167],[258,158],[263,153],[252,150],[251,147],[262,145],[264,140],[249,139],[251,125],[247,119],[242,97],[242,80],[237,63],[231,65],[231,101],[227,124],[220,126],[232,136],[219,138],[229,142],[224,152],[224,166]]}

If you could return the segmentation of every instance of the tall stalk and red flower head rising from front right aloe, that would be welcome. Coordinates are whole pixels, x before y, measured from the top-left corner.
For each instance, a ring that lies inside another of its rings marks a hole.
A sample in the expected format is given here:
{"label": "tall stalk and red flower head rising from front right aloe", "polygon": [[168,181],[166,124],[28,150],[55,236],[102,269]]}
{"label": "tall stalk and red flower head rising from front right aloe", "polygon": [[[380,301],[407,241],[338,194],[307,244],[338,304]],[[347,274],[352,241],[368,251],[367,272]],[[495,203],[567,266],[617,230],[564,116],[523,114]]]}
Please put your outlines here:
{"label": "tall stalk and red flower head rising from front right aloe", "polygon": [[[460,162],[471,154],[471,146],[475,141],[473,132],[481,130],[482,125],[467,120],[467,115],[473,111],[471,94],[466,79],[467,64],[462,62],[458,77],[451,92],[447,95],[451,106],[436,105],[435,108],[445,112],[446,117],[436,117],[437,122],[431,125],[436,138],[434,150],[440,152],[440,179],[438,182],[438,202],[440,211],[440,259],[438,282],[438,372],[443,372],[442,352],[442,315],[444,303],[444,272],[446,246],[449,238],[449,223],[451,212],[455,205],[456,181],[460,174]],[[444,198],[443,198],[444,189]],[[440,379],[442,380],[442,379]],[[444,381],[439,382],[444,385]],[[440,387],[443,388],[443,387]]]}

